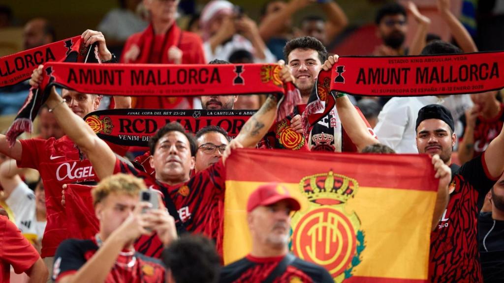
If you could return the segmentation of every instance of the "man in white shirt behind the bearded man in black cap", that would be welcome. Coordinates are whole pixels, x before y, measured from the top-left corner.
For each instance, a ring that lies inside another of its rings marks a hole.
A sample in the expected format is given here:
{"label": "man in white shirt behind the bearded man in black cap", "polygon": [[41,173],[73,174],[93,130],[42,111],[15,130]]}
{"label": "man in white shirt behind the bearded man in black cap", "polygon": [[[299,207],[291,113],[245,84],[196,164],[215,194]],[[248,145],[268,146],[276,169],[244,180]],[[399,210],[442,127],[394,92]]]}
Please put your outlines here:
{"label": "man in white shirt behind the bearded man in black cap", "polygon": [[[422,50],[422,55],[456,53],[462,53],[462,50],[440,40],[427,44]],[[448,108],[454,121],[458,121],[464,111],[473,106],[469,95],[394,97],[385,104],[378,115],[374,133],[382,144],[389,146],[396,153],[418,153],[415,122],[418,110],[429,104],[441,104]],[[461,127],[456,125],[455,133],[458,135],[459,131]]]}

